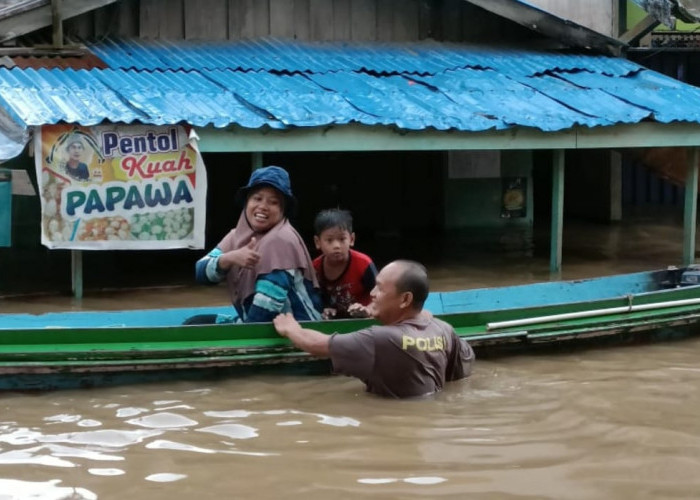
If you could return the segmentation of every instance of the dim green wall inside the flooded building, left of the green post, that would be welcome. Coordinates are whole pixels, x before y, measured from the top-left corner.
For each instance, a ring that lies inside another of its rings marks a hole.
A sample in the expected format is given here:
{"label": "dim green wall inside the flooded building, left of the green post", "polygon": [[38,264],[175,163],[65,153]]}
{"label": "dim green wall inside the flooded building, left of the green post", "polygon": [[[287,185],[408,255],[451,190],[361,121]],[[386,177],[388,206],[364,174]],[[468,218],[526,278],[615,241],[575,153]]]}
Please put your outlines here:
{"label": "dim green wall inside the flooded building, left of the green post", "polygon": [[[522,218],[504,218],[503,178],[526,179],[526,214]],[[445,226],[450,229],[531,228],[533,221],[532,152],[501,152],[501,177],[449,179],[445,175]]]}

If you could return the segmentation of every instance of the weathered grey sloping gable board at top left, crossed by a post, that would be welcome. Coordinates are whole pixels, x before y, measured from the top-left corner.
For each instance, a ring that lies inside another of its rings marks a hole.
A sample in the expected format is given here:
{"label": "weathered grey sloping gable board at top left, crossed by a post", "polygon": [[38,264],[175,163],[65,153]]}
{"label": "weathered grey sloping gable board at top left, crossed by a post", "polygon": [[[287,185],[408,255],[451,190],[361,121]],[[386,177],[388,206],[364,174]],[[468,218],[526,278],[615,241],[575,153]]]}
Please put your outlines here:
{"label": "weathered grey sloping gable board at top left, crossed by a post", "polygon": [[[61,2],[61,12],[65,20],[117,1],[118,0],[63,0]],[[41,28],[51,26],[53,21],[51,15],[52,8],[52,5],[47,2],[45,5],[41,5],[35,9],[0,19],[0,42],[6,42]]]}

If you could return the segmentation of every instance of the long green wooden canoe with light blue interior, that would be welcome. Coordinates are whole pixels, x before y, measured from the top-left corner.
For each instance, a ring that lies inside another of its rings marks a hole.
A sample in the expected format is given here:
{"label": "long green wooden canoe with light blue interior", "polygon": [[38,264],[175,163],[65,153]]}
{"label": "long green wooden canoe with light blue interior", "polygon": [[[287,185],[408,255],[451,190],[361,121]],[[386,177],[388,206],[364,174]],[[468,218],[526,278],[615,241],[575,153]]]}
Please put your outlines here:
{"label": "long green wooden canoe with light blue interior", "polygon": [[[477,356],[700,333],[700,270],[431,293],[426,308]],[[681,286],[681,276],[688,283]],[[196,325],[228,308],[0,315],[0,389],[55,389],[308,365],[270,324]],[[350,332],[370,320],[309,323]],[[323,364],[328,370],[328,363]]]}

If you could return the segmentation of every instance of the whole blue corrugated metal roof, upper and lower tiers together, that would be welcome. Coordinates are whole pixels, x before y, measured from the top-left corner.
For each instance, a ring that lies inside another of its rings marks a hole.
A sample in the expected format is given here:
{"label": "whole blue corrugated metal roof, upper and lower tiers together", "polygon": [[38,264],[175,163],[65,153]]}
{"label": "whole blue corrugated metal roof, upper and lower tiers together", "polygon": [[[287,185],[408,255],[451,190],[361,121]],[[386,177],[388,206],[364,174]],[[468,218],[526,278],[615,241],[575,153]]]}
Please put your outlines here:
{"label": "whole blue corrugated metal roof, upper and lower tiers together", "polygon": [[700,89],[604,56],[436,42],[107,40],[91,48],[110,69],[0,69],[0,105],[24,126],[555,131],[700,122]]}

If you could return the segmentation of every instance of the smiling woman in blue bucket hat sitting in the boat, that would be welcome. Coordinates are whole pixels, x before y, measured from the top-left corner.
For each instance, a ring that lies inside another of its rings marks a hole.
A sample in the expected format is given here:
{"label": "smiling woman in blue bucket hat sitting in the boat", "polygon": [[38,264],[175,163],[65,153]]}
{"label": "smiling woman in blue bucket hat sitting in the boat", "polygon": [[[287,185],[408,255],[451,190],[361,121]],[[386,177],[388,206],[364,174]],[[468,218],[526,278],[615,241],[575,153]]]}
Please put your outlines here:
{"label": "smiling woman in blue bucket hat sitting in the boat", "polygon": [[255,170],[236,201],[243,206],[236,227],[197,262],[196,276],[208,284],[226,279],[237,317],[196,316],[186,323],[264,322],[282,312],[300,321],[321,319],[311,257],[287,218],[296,205],[287,171]]}

